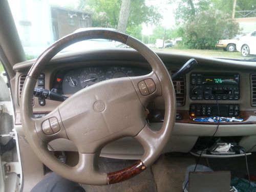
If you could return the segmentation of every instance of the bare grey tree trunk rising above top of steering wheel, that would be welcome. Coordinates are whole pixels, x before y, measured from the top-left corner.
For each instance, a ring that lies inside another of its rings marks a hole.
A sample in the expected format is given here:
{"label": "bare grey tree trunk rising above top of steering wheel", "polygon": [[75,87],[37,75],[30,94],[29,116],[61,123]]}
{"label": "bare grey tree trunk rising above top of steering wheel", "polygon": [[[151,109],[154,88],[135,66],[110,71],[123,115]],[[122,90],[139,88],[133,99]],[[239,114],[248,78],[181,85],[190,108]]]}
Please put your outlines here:
{"label": "bare grey tree trunk rising above top of steering wheel", "polygon": [[121,10],[119,13],[117,30],[125,33],[127,28],[127,23],[131,11],[131,0],[122,0]]}

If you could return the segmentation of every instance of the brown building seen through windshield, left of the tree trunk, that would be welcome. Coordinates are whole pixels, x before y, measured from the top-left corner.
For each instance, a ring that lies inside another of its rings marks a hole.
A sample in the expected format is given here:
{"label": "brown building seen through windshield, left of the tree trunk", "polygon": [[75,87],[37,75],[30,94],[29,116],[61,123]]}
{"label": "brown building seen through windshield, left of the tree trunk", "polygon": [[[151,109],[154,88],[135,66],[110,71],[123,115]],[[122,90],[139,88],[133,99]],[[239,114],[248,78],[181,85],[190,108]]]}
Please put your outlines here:
{"label": "brown building seen through windshield, left of the tree trunk", "polygon": [[52,6],[53,38],[57,40],[75,30],[92,26],[91,13]]}

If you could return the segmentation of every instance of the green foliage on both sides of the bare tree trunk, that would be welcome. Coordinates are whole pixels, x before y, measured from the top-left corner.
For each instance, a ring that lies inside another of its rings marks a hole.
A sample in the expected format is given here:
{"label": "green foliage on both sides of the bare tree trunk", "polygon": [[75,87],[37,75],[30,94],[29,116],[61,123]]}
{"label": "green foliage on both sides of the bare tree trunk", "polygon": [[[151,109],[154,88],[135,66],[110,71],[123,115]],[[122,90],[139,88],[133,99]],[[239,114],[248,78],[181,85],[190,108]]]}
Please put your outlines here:
{"label": "green foliage on both sides of the bare tree trunk", "polygon": [[[93,13],[93,27],[117,28],[121,0],[87,0],[81,1],[79,6],[82,4],[85,10]],[[161,14],[153,6],[146,6],[145,0],[132,1],[131,7],[126,33],[141,39],[141,24],[156,24]]]}

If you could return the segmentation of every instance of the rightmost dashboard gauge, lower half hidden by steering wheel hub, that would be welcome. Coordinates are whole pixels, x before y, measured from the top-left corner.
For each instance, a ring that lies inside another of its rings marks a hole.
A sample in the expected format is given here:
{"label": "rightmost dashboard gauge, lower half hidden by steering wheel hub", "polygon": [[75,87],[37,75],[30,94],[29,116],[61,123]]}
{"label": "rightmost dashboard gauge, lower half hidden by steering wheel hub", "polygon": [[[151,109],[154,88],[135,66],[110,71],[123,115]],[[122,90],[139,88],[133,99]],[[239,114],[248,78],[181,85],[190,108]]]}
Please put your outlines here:
{"label": "rightmost dashboard gauge, lower half hidden by steering wheel hub", "polygon": [[106,79],[134,76],[133,71],[126,67],[111,67],[106,72]]}

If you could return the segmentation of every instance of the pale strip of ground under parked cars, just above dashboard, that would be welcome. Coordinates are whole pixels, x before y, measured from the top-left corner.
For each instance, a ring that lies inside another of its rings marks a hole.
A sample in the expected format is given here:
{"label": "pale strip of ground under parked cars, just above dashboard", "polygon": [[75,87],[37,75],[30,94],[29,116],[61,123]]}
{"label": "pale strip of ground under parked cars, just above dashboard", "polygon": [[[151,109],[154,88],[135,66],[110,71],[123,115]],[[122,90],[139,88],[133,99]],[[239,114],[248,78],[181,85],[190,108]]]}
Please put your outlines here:
{"label": "pale strip of ground under parked cars, just above dashboard", "polygon": [[243,57],[240,52],[227,52],[223,50],[200,50],[200,49],[186,49],[183,47],[172,47],[172,48],[164,48],[157,49],[153,48],[154,51],[159,52],[168,52],[168,53],[180,53],[180,54],[188,54],[188,55],[199,55],[199,56],[208,56],[208,57],[225,57],[225,58],[239,58],[239,59],[249,59],[256,58],[256,55],[251,55],[249,57]]}

